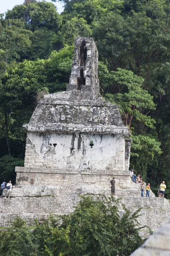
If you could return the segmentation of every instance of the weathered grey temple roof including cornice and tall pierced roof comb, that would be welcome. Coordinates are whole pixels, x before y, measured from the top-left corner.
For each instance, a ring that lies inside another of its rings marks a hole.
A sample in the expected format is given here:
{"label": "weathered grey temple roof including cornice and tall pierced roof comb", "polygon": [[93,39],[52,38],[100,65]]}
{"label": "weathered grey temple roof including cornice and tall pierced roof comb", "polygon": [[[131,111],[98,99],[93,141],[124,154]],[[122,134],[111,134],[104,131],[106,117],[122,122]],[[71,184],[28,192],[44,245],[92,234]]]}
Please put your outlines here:
{"label": "weathered grey temple roof including cornice and tall pierced roof comb", "polygon": [[118,106],[106,102],[99,94],[98,52],[92,38],[76,38],[67,90],[45,95],[29,124],[23,127],[33,132],[77,131],[130,136]]}

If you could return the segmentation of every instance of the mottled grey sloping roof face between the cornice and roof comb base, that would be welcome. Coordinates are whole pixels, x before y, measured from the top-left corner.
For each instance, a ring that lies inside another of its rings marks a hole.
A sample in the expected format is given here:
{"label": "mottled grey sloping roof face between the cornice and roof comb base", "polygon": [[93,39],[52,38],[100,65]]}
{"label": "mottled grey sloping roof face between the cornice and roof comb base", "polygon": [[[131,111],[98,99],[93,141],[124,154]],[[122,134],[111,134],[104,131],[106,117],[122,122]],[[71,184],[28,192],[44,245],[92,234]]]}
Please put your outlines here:
{"label": "mottled grey sloping roof face between the cornice and roof comb base", "polygon": [[[31,117],[30,124],[43,123],[43,125],[73,124],[73,125],[116,125],[122,126],[122,120],[118,117],[119,110],[115,105],[108,103],[103,106],[96,105],[67,105],[63,104],[43,104],[38,105]],[[94,104],[92,101],[91,104]]]}

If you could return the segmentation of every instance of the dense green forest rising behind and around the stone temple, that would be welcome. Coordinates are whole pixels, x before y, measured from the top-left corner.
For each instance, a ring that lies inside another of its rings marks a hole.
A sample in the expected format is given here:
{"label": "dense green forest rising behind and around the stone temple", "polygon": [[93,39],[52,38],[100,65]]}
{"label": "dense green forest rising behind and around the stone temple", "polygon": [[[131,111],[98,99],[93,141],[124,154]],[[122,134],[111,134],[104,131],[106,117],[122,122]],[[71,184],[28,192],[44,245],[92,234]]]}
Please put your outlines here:
{"label": "dense green forest rising behind and around the stone temple", "polygon": [[[133,136],[130,166],[151,188],[165,180],[170,198],[170,2],[61,2],[61,14],[52,2],[25,0],[0,15],[0,158],[24,159],[23,123],[40,95],[65,90],[74,38],[90,36],[102,96],[119,104]],[[13,165],[1,166],[0,178],[14,183]]]}

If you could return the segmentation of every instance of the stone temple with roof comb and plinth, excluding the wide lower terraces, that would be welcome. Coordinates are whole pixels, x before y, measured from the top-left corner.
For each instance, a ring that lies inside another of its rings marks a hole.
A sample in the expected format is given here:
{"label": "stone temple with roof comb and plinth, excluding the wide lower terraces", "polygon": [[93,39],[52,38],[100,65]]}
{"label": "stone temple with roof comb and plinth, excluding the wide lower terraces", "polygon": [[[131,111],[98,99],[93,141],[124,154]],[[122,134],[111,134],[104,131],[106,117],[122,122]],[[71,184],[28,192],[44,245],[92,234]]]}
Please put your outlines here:
{"label": "stone temple with roof comb and plinth, excluding the wide lower terraces", "polygon": [[130,133],[118,107],[99,94],[92,38],[76,39],[67,90],[45,95],[24,127],[25,165],[16,167],[20,185],[74,186],[79,192],[82,186],[91,192],[96,185],[110,192],[115,176],[117,186],[129,186]]}

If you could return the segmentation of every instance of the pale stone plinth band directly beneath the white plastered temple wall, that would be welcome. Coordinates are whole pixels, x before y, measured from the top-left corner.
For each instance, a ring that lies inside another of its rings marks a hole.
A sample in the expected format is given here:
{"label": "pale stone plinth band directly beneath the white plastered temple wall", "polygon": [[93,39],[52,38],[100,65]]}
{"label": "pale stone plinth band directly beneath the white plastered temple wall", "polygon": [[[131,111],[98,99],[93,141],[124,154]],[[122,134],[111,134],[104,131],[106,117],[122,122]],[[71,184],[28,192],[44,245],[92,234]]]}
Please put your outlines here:
{"label": "pale stone plinth band directly beneath the white plastered temple wall", "polygon": [[[139,195],[139,187],[126,189],[130,187],[131,179],[128,172],[121,171],[118,173],[111,170],[89,170],[89,169],[45,169],[45,168],[26,168],[16,167],[17,180],[16,183],[20,186],[26,186],[28,184],[45,185],[45,186],[57,186],[59,189],[65,191],[65,188],[69,188],[72,194],[81,194],[83,186],[88,187],[88,194],[91,193],[89,188],[96,186],[97,194],[110,193],[110,180],[112,177],[116,177],[116,193],[117,195]],[[124,191],[126,189],[127,191]]]}

